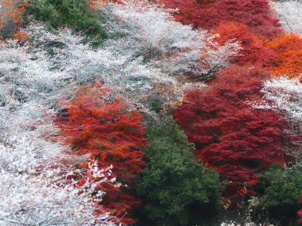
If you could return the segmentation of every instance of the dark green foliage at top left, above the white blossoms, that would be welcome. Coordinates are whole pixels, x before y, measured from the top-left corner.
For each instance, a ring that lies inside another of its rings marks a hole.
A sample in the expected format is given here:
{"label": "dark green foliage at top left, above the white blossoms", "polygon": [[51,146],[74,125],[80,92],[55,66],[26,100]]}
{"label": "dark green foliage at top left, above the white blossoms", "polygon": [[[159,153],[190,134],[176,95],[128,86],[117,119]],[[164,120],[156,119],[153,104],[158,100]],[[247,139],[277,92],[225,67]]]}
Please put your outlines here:
{"label": "dark green foliage at top left, above the white blossoms", "polygon": [[86,0],[31,0],[30,4],[28,14],[46,22],[50,29],[71,27],[75,32],[89,35],[95,45],[107,37]]}

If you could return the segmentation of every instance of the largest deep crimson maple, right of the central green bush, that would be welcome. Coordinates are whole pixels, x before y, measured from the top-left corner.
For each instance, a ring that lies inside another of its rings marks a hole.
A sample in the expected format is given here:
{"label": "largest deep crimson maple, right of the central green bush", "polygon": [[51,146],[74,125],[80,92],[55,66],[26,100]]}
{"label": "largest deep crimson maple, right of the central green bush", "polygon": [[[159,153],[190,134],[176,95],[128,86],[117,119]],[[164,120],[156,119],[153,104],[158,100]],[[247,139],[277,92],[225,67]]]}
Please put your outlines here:
{"label": "largest deep crimson maple, right of the central green bush", "polygon": [[259,100],[261,80],[267,77],[260,68],[226,69],[207,89],[187,93],[175,112],[174,118],[196,145],[197,158],[228,179],[225,196],[255,194],[257,174],[285,161],[286,123],[273,111],[245,103]]}

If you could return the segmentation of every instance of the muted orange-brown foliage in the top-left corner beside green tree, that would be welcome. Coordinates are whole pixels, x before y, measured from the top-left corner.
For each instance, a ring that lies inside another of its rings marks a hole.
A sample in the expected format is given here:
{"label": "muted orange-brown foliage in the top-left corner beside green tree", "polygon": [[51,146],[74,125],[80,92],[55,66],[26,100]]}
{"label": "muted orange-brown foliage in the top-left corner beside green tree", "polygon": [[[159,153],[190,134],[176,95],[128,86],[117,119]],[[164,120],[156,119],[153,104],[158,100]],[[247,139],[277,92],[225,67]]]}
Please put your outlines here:
{"label": "muted orange-brown foliage in the top-left corner beside green tree", "polygon": [[22,15],[27,4],[21,0],[4,0],[0,8],[0,36],[3,38],[15,34],[23,23]]}

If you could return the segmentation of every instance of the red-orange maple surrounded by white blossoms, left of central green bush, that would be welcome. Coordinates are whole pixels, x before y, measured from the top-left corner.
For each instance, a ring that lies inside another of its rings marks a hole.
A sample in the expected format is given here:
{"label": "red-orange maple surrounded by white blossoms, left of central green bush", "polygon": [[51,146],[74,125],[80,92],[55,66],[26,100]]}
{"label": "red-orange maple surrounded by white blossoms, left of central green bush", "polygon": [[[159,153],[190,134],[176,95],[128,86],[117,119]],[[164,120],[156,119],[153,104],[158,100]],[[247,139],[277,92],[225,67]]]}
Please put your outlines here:
{"label": "red-orange maple surrounded by white blossoms, left of central green bush", "polygon": [[[145,143],[142,116],[135,111],[128,114],[119,100],[107,103],[105,99],[106,91],[82,89],[66,102],[66,116],[59,121],[62,135],[75,153],[90,154],[101,168],[112,164],[117,181],[131,186],[144,165],[139,151]],[[112,215],[120,217],[139,204],[121,188],[107,184],[101,189],[107,192],[102,204]],[[123,218],[123,223],[133,222],[129,217]]]}

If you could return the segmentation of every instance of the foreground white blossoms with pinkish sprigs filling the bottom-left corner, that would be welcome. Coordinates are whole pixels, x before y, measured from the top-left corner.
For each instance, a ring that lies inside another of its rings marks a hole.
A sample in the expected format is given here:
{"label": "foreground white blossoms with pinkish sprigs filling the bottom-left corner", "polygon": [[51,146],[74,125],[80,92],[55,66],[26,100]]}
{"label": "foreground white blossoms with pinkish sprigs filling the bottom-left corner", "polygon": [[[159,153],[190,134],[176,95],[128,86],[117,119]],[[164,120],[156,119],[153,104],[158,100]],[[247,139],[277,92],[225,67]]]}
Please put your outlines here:
{"label": "foreground white blossoms with pinkish sprigs filling the bottom-left corner", "polygon": [[[103,192],[92,195],[98,184],[114,180],[105,176],[111,168],[90,164],[83,172],[54,166],[36,173],[0,170],[0,225],[114,225],[109,213],[94,215]],[[84,184],[68,179],[79,174]]]}

